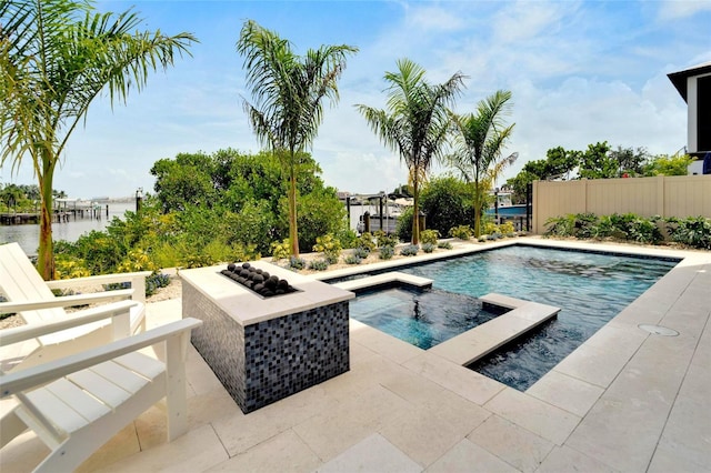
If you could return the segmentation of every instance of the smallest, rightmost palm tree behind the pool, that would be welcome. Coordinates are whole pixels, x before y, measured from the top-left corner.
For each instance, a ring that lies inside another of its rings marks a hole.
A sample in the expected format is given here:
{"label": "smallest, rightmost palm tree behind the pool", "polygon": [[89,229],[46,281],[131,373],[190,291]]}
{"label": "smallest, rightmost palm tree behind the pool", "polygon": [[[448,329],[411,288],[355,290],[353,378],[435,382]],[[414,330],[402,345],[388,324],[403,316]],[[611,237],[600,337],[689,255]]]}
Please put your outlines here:
{"label": "smallest, rightmost palm tree behind the pool", "polygon": [[474,187],[474,235],[481,235],[481,212],[485,193],[503,168],[518,158],[502,157],[513,125],[507,127],[503,117],[510,113],[511,92],[499,90],[477,104],[477,112],[463,115],[452,113],[454,151],[448,157],[467,182]]}

